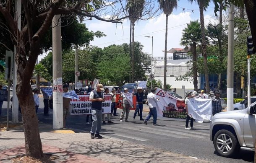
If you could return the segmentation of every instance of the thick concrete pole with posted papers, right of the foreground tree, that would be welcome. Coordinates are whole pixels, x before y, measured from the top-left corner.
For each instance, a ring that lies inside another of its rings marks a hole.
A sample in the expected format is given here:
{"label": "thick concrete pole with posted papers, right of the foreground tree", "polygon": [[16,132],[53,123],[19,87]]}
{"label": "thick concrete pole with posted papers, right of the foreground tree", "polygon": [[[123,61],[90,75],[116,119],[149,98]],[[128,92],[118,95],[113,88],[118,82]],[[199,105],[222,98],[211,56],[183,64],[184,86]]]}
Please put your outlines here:
{"label": "thick concrete pole with posted papers, right of the foreground tree", "polygon": [[[62,78],[62,53],[61,53],[61,18],[55,15],[52,18],[52,76],[53,83],[57,78]],[[57,84],[56,84],[57,85]],[[53,90],[53,129],[63,128],[63,95],[62,92]]]}

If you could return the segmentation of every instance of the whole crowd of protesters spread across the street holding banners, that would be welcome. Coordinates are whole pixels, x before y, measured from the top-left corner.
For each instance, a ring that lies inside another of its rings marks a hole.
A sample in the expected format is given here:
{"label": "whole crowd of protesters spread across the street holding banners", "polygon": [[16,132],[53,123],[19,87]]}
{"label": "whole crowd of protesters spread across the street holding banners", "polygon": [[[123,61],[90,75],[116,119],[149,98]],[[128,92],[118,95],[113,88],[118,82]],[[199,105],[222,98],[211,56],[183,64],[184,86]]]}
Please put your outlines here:
{"label": "whole crowd of protesters spread across the street holding banners", "polygon": [[[155,88],[156,89],[156,88]],[[132,93],[132,96],[136,96],[136,109],[133,114],[133,120],[136,120],[136,116],[138,114],[139,120],[143,121],[144,124],[147,124],[147,121],[153,116],[153,125],[157,125],[157,102],[159,102],[159,98],[156,98],[155,89],[152,89],[151,92],[147,95],[147,101],[146,104],[149,106],[149,114],[146,116],[145,119],[142,118],[142,112],[143,112],[143,96],[146,90],[143,90],[141,87],[137,87],[136,91]],[[89,94],[89,101],[91,101],[91,114],[86,115],[86,124],[90,124],[89,117],[91,119],[91,138],[102,138],[100,135],[101,125],[106,124],[106,116],[107,116],[107,123],[111,124],[113,123],[111,121],[111,116],[118,116],[117,115],[117,107],[115,107],[116,104],[116,98],[117,94],[120,94],[118,96],[118,99],[122,99],[122,111],[120,114],[120,122],[129,122],[128,116],[130,112],[131,104],[128,101],[128,98],[126,97],[126,93],[128,93],[128,88],[123,89],[123,93],[118,93],[119,90],[116,90],[115,88],[112,88],[110,91],[109,88],[103,88],[102,84],[97,84],[96,89],[91,89],[91,87],[87,88],[87,94]],[[40,89],[35,88],[33,90],[33,97],[34,97],[34,106],[35,106],[35,112],[37,113],[38,107],[39,107],[39,96]],[[68,85],[63,85],[63,92],[68,92]],[[75,90],[77,94],[78,91]],[[212,100],[212,114],[216,114],[221,112],[222,106],[221,106],[221,98],[219,97],[220,93],[218,90],[210,91],[209,95],[204,93],[204,90],[200,91],[200,94],[197,94],[197,91],[187,91],[185,96],[185,110],[188,114],[188,100],[189,98],[203,98],[203,99],[211,99]],[[47,116],[49,114],[49,101],[52,100],[52,96],[48,96],[47,93],[42,91],[43,97],[44,97],[44,115]],[[105,101],[104,95],[111,95],[111,113],[110,114],[102,114],[102,102]],[[63,127],[66,128],[65,122],[70,114],[69,107],[70,107],[70,98],[63,97]],[[1,103],[0,103],[1,104]],[[190,120],[190,127],[188,127],[188,123]],[[187,115],[187,119],[185,122],[185,129],[194,129],[193,128],[193,121],[194,119],[191,118],[191,116]]]}

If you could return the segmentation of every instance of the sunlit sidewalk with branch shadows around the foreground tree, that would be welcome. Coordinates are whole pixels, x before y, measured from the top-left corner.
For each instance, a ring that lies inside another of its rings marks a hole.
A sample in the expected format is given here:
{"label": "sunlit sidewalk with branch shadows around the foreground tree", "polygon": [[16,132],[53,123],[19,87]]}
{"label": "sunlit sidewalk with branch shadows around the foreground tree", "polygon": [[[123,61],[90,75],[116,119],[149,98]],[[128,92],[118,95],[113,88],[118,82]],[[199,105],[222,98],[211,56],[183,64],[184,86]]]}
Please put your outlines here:
{"label": "sunlit sidewalk with branch shadows around the foreground tree", "polygon": [[[153,149],[108,135],[91,139],[90,133],[73,129],[53,130],[39,122],[44,153],[56,155],[56,163],[207,163],[174,152]],[[23,127],[0,132],[0,162],[25,153]]]}

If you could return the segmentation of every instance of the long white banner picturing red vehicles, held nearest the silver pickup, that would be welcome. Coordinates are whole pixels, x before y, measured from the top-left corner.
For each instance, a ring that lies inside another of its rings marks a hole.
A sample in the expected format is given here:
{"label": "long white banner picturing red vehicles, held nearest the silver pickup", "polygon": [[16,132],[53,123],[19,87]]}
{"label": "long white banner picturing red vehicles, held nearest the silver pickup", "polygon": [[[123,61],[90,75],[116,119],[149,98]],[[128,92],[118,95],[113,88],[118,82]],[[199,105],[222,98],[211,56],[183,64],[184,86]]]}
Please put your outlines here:
{"label": "long white banner picturing red vehicles, held nearest the silver pickup", "polygon": [[[160,88],[156,89],[156,96],[159,98],[159,102],[157,102],[157,116],[186,119],[187,114],[184,100],[180,100]],[[188,114],[196,119],[197,122],[211,119],[211,99],[191,98],[189,101],[192,102],[188,106]]]}

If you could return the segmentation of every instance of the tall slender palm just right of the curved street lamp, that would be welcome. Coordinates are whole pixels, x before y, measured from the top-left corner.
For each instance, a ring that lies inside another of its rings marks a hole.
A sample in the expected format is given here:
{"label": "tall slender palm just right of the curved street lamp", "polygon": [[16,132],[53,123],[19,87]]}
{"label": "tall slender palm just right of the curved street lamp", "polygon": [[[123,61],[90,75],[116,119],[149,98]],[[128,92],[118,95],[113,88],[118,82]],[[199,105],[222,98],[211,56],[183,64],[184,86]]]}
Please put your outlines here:
{"label": "tall slender palm just right of the curved street lamp", "polygon": [[166,15],[165,24],[165,69],[164,69],[164,90],[166,91],[166,71],[167,71],[167,31],[168,31],[168,16],[172,13],[174,8],[177,8],[177,0],[157,0],[160,9],[164,11]]}

